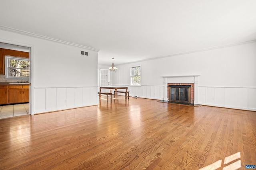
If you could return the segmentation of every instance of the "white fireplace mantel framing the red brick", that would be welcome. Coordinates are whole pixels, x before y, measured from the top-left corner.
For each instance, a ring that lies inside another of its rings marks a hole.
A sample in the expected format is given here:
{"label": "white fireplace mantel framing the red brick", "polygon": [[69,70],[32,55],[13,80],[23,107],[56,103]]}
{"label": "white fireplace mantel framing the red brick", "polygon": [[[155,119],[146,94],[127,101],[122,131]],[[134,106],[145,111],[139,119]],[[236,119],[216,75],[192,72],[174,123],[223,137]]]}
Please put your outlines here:
{"label": "white fireplace mantel framing the red brick", "polygon": [[163,76],[164,100],[168,100],[168,83],[194,83],[194,104],[198,104],[198,78],[200,75]]}

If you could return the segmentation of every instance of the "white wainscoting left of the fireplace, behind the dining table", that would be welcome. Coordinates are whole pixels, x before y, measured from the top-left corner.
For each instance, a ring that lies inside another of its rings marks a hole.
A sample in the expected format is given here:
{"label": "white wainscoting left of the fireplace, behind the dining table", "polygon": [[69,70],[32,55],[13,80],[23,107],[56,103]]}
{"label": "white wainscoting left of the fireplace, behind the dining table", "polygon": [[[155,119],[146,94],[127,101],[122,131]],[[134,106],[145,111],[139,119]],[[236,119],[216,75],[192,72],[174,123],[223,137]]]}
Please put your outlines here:
{"label": "white wainscoting left of the fireplace, behind the dining table", "polygon": [[[127,86],[128,91],[129,91],[129,96],[131,96],[131,97],[132,96],[137,96],[138,98],[164,100],[164,85],[162,85],[162,86],[155,86],[155,85],[141,85],[141,86],[111,85],[111,86]],[[109,89],[106,89],[106,90],[109,90]],[[112,93],[114,94],[114,90],[112,90]],[[124,95],[124,94],[119,94],[119,95]]]}

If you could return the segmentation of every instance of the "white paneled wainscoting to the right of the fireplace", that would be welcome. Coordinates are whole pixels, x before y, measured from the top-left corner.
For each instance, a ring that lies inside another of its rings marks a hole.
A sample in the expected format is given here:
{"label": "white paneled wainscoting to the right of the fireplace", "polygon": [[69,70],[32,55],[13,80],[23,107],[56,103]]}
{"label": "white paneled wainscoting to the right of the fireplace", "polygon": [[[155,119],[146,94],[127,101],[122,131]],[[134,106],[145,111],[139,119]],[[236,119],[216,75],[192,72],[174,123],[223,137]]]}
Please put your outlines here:
{"label": "white paneled wainscoting to the right of the fireplace", "polygon": [[198,87],[199,104],[256,111],[256,87]]}

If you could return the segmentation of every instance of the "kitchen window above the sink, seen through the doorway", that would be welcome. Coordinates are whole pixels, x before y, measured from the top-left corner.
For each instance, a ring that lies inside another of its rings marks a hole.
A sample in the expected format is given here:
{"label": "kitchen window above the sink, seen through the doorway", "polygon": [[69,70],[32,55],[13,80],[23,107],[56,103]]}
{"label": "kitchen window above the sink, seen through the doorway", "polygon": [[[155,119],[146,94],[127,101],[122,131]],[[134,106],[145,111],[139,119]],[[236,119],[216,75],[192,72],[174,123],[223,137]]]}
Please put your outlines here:
{"label": "kitchen window above the sink, seen through the doorway", "polygon": [[22,57],[5,56],[6,78],[29,78],[29,59]]}

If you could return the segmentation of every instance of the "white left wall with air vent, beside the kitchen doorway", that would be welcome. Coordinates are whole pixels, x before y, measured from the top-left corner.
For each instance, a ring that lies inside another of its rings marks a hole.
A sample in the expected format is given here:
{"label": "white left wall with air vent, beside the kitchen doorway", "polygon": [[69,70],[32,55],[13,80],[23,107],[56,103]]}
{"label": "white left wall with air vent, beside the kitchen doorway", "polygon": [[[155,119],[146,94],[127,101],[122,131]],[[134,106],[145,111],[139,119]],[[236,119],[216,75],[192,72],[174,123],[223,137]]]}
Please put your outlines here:
{"label": "white left wall with air vent, beside the kitchen doorway", "polygon": [[97,104],[98,50],[6,30],[0,37],[31,47],[32,114]]}

